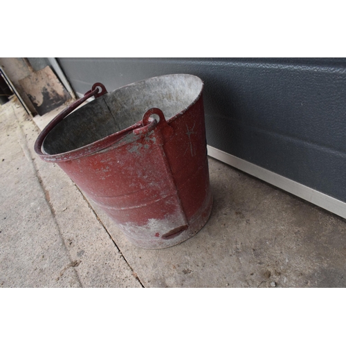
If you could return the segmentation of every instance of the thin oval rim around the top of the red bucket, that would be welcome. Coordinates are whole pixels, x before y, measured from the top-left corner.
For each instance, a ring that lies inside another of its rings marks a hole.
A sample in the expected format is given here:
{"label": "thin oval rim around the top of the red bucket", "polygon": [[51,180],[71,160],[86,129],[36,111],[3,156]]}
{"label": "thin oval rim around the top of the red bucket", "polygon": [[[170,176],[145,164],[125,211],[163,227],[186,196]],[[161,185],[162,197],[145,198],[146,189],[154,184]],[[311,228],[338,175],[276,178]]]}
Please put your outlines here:
{"label": "thin oval rim around the top of the red bucket", "polygon": [[[130,87],[130,86],[134,86],[136,84],[147,82],[148,80],[155,80],[155,79],[161,79],[161,78],[174,78],[174,77],[178,77],[178,76],[182,76],[182,75],[197,78],[201,82],[201,89],[199,90],[197,97],[194,98],[194,100],[192,102],[190,102],[188,107],[185,107],[185,109],[183,109],[179,113],[176,113],[176,115],[172,116],[170,119],[167,120],[167,123],[170,124],[171,122],[176,120],[176,118],[179,118],[180,116],[183,115],[183,113],[188,111],[188,109],[190,109],[201,98],[201,95],[202,95],[203,89],[204,89],[204,82],[197,75],[191,75],[189,73],[171,73],[171,74],[167,74],[167,75],[158,75],[158,76],[154,76],[151,78],[145,78],[143,80],[138,80],[137,82],[132,82],[132,83],[126,84],[124,86],[120,86],[120,88],[114,89],[113,91],[110,91],[110,93],[116,92],[120,89],[125,89],[125,88]],[[107,93],[104,95],[107,95]],[[100,96],[100,98],[104,98],[104,95]],[[92,100],[91,102],[94,102],[94,101],[95,100]],[[82,107],[80,107],[80,109]],[[72,114],[72,113],[70,113],[70,114]],[[143,115],[144,114],[145,114],[145,112],[143,113]],[[53,121],[54,121],[54,119],[52,120],[52,122]],[[42,132],[46,131],[46,129],[49,127],[50,124],[51,124],[51,122],[42,130]],[[47,133],[45,134],[45,136],[42,140],[42,152],[37,152],[37,154],[40,156],[40,158],[42,158],[42,160],[44,160],[46,162],[56,163],[56,162],[60,162],[60,161],[71,161],[75,158],[80,158],[83,156],[89,156],[91,154],[94,154],[95,152],[99,152],[100,150],[107,149],[107,147],[111,147],[111,145],[116,144],[117,142],[119,142],[120,140],[122,140],[123,138],[128,136],[134,129],[138,129],[138,127],[141,127],[142,126],[142,120],[135,122],[134,125],[131,125],[130,127],[127,127],[127,128],[122,129],[120,131],[117,131],[113,134],[110,134],[109,136],[105,136],[99,140],[95,140],[94,142],[89,143],[87,145],[83,145],[82,147],[78,147],[77,149],[69,150],[68,152],[62,152],[59,154],[47,154],[46,152],[44,152],[44,141],[46,140],[46,137],[48,136],[48,134],[55,128],[55,126],[52,127],[51,129],[49,129],[49,131],[47,131]],[[138,138],[138,136],[136,136],[136,138],[134,140],[137,140],[137,138]],[[126,143],[124,143],[124,144],[126,144]]]}

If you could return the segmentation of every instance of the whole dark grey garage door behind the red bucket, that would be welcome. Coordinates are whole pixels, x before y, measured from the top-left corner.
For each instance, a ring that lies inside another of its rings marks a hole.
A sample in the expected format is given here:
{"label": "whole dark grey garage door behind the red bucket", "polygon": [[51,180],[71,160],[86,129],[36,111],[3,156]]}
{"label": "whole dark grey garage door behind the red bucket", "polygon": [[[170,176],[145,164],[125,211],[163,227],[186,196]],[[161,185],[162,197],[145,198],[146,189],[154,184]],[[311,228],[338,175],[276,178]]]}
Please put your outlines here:
{"label": "whole dark grey garage door behind the red bucket", "polygon": [[346,59],[60,58],[78,93],[155,75],[205,83],[208,145],[346,201]]}

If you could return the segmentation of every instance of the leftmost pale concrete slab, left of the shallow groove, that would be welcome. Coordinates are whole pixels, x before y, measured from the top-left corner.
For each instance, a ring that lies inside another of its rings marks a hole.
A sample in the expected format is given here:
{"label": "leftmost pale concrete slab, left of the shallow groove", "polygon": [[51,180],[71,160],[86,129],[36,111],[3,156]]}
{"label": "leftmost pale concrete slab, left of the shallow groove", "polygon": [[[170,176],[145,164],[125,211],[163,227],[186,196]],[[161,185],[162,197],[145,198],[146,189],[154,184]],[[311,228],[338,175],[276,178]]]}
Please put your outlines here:
{"label": "leftmost pale concrete slab, left of the shallow groove", "polygon": [[0,286],[81,286],[30,162],[16,110],[16,104],[6,104],[0,116]]}

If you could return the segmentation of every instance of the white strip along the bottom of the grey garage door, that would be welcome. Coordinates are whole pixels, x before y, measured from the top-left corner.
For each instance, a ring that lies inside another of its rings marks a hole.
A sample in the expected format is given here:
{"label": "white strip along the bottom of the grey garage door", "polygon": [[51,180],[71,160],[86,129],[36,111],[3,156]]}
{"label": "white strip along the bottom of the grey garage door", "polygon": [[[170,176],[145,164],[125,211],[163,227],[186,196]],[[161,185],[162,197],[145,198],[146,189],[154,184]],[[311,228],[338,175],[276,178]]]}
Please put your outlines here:
{"label": "white strip along the bottom of the grey garage door", "polygon": [[266,170],[248,161],[244,161],[242,158],[237,158],[236,156],[222,152],[215,147],[210,147],[210,145],[207,145],[207,147],[208,156],[227,163],[238,170],[251,174],[258,179],[266,181],[266,183],[270,183],[277,188],[290,192],[301,199],[309,201],[320,208],[333,212],[334,214],[346,219],[346,203],[330,197],[327,194],[323,194],[322,192],[318,192],[317,190],[313,190],[306,185],[302,185],[296,181],[285,178],[280,174]]}

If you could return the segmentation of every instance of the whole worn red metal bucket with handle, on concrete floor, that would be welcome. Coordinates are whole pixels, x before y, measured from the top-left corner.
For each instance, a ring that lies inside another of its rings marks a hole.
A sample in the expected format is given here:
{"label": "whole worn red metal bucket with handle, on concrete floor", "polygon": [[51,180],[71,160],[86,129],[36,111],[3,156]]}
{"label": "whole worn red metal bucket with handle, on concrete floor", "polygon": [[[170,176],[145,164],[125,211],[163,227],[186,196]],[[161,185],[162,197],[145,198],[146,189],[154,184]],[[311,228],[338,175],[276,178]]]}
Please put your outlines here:
{"label": "whole worn red metal bucket with handle, on concrete floor", "polygon": [[47,125],[35,151],[60,165],[133,244],[174,246],[199,232],[212,209],[202,90],[199,78],[183,74],[110,93],[96,83]]}

